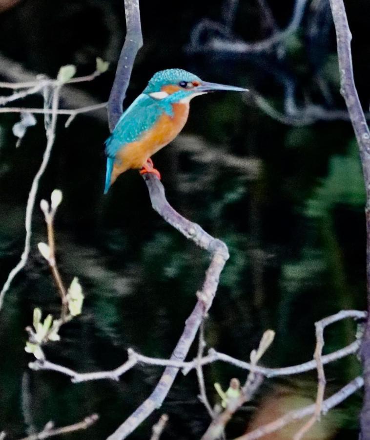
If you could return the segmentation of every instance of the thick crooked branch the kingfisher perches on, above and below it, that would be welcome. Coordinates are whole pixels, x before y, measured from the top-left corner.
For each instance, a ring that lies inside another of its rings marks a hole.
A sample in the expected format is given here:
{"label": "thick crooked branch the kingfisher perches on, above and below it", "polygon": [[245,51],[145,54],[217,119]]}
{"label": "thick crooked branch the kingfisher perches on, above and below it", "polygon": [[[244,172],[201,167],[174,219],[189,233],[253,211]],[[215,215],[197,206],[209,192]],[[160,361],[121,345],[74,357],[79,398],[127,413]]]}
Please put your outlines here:
{"label": "thick crooked branch the kingfisher perches on, above and below it", "polygon": [[[116,76],[108,101],[109,129],[112,132],[122,115],[123,99],[130,79],[132,66],[139,48],[143,44],[139,11],[139,0],[125,0],[126,38],[117,66]],[[198,292],[198,302],[185,322],[185,328],[170,360],[184,361],[194,341],[199,326],[207,310],[211,307],[219,282],[220,273],[228,259],[225,243],[207,234],[199,225],[186,220],[167,202],[164,187],[156,176],[144,175],[153,209],[167,223],[179,230],[186,238],[206,249],[211,254],[211,263],[206,271],[202,290]],[[126,438],[144,421],[155,408],[159,408],[167,396],[179,368],[166,367],[159,383],[142,405],[111,435],[109,440]]]}

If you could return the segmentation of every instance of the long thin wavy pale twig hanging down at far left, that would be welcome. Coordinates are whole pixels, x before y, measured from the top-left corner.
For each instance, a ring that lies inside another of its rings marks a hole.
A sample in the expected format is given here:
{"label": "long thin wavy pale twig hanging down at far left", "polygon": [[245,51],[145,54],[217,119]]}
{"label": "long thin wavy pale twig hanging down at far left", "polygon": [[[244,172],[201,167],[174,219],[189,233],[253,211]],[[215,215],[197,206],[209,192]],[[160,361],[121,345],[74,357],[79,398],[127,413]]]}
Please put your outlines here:
{"label": "long thin wavy pale twig hanging down at far left", "polygon": [[8,291],[14,277],[21,271],[21,269],[24,267],[24,265],[27,262],[28,255],[30,252],[30,243],[31,243],[31,234],[32,234],[32,214],[33,214],[33,208],[35,206],[35,200],[37,195],[37,190],[39,188],[39,181],[41,176],[43,175],[46,166],[48,164],[51,150],[54,145],[55,140],[55,130],[57,127],[57,119],[58,119],[58,105],[59,105],[59,92],[60,92],[60,86],[57,86],[53,90],[53,97],[52,97],[52,104],[51,104],[51,122],[49,130],[46,131],[46,137],[47,137],[47,143],[45,152],[42,157],[42,162],[40,165],[40,168],[38,172],[36,173],[31,190],[28,195],[27,200],[27,207],[26,207],[26,218],[25,218],[25,229],[26,229],[26,237],[25,237],[25,243],[24,243],[24,249],[21,255],[21,260],[19,263],[10,271],[7,280],[5,281],[5,284],[3,285],[1,291],[0,291],[0,310],[4,301],[5,293]]}

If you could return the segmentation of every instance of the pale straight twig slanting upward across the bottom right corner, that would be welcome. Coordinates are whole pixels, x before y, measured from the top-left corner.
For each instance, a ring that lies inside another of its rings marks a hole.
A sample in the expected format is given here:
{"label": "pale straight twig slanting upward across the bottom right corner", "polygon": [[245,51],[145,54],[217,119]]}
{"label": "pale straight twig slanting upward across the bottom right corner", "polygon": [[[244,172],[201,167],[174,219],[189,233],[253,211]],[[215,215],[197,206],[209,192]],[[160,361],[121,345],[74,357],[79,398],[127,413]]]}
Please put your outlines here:
{"label": "pale straight twig slanting upward across the bottom right corner", "polygon": [[[339,405],[339,403],[343,402],[347,397],[351,396],[357,390],[359,390],[364,385],[364,379],[361,376],[353,379],[349,384],[340,389],[337,393],[333,394],[323,402],[323,414],[326,414],[331,408]],[[240,436],[234,440],[256,440],[261,437],[266,436],[272,432],[278,431],[289,423],[300,420],[304,417],[310,416],[315,412],[316,404],[308,405],[299,410],[289,411],[283,417],[280,417],[266,425],[260,426],[254,431],[248,432],[243,436]]]}

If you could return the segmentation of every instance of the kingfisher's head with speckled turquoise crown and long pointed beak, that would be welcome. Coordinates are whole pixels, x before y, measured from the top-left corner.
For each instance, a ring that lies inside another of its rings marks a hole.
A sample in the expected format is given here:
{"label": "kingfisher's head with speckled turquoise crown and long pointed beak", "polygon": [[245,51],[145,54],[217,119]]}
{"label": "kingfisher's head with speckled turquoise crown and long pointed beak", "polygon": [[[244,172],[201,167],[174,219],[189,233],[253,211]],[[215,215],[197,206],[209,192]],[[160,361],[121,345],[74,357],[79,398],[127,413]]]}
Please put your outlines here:
{"label": "kingfisher's head with speckled turquoise crown and long pointed beak", "polygon": [[197,95],[218,90],[247,91],[246,88],[208,83],[183,69],[166,69],[153,75],[143,93],[158,100],[172,98],[173,102],[189,102]]}

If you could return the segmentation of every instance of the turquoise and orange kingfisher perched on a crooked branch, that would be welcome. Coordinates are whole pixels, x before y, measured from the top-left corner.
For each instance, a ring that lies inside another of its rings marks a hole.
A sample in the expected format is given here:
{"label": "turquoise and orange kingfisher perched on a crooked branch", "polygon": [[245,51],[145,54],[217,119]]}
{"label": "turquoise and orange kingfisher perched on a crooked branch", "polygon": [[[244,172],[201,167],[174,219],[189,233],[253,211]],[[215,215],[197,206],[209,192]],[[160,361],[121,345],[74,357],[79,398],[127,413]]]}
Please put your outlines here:
{"label": "turquoise and orange kingfisher perched on a crooked branch", "polygon": [[181,132],[191,99],[219,90],[247,91],[246,88],[202,81],[197,75],[178,68],[155,73],[105,141],[104,194],[117,177],[129,169],[139,169],[141,174],[152,173],[161,179],[151,156]]}

